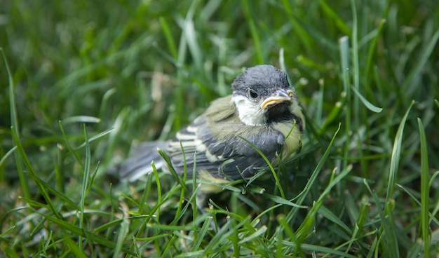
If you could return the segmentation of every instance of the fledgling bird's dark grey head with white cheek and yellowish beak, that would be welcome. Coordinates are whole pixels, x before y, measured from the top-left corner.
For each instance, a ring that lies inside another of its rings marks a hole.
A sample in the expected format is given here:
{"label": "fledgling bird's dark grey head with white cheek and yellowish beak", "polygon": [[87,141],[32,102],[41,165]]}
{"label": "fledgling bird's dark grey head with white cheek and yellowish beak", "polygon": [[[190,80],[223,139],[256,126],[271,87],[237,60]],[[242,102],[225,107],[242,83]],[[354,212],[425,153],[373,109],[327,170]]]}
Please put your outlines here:
{"label": "fledgling bird's dark grey head with white cheek and yellowish beak", "polygon": [[235,79],[232,89],[238,117],[246,125],[264,125],[300,109],[287,74],[272,65],[247,69]]}

